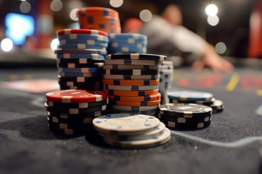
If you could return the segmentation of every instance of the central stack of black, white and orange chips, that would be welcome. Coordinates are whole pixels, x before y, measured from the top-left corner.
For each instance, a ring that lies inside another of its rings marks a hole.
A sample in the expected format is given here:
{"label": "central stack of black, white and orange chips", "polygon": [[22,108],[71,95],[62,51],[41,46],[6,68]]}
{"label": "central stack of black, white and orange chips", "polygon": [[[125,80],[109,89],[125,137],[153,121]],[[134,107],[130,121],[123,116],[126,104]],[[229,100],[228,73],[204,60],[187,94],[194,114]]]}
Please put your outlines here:
{"label": "central stack of black, white and orange chips", "polygon": [[108,55],[103,87],[113,113],[156,115],[161,101],[159,69],[166,56],[151,54]]}

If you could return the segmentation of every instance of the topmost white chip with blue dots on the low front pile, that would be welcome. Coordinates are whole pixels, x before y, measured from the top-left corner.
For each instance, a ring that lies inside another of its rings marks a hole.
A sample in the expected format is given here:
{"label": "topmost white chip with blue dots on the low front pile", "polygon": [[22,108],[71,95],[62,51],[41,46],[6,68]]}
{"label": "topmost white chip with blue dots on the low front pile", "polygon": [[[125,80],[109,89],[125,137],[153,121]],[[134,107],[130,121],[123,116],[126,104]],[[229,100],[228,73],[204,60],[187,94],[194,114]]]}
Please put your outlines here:
{"label": "topmost white chip with blue dots on the low front pile", "polygon": [[93,119],[93,126],[99,132],[135,133],[146,132],[159,126],[159,119],[143,114],[108,114]]}

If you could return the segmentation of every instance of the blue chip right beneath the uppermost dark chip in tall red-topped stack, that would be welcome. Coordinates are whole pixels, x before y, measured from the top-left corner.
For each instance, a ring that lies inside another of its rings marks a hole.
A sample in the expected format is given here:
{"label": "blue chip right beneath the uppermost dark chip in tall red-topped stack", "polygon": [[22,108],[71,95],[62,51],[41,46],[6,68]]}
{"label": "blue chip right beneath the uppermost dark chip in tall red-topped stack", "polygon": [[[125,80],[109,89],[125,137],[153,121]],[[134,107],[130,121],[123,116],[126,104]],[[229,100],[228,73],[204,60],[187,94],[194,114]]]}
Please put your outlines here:
{"label": "blue chip right beneath the uppermost dark chip in tall red-topped stack", "polygon": [[70,54],[70,53],[64,53],[64,54],[56,54],[56,58],[64,58],[64,59],[80,59],[80,58],[86,58],[86,59],[106,59],[106,55],[102,54]]}

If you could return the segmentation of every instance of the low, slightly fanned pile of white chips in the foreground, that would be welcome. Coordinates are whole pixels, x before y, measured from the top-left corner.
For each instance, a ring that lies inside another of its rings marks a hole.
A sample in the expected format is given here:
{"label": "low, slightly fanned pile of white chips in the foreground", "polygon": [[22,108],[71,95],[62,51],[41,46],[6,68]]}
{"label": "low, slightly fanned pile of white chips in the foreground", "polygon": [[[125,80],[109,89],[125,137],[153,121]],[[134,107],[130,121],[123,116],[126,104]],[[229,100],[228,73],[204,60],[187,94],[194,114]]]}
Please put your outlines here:
{"label": "low, slightly fanned pile of white chips in the foreground", "polygon": [[103,140],[122,148],[146,148],[164,144],[171,132],[158,118],[142,114],[108,114],[93,119]]}

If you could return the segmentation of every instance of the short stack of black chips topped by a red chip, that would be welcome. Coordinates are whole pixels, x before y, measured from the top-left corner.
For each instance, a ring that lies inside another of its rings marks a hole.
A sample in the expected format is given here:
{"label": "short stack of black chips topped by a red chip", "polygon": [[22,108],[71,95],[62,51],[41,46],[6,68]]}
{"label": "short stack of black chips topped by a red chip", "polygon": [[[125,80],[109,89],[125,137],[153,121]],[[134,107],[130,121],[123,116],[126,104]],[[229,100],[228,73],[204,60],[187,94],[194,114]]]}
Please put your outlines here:
{"label": "short stack of black chips topped by a red chip", "polygon": [[46,93],[49,130],[55,134],[84,134],[92,120],[107,114],[108,97],[103,91],[58,90]]}

